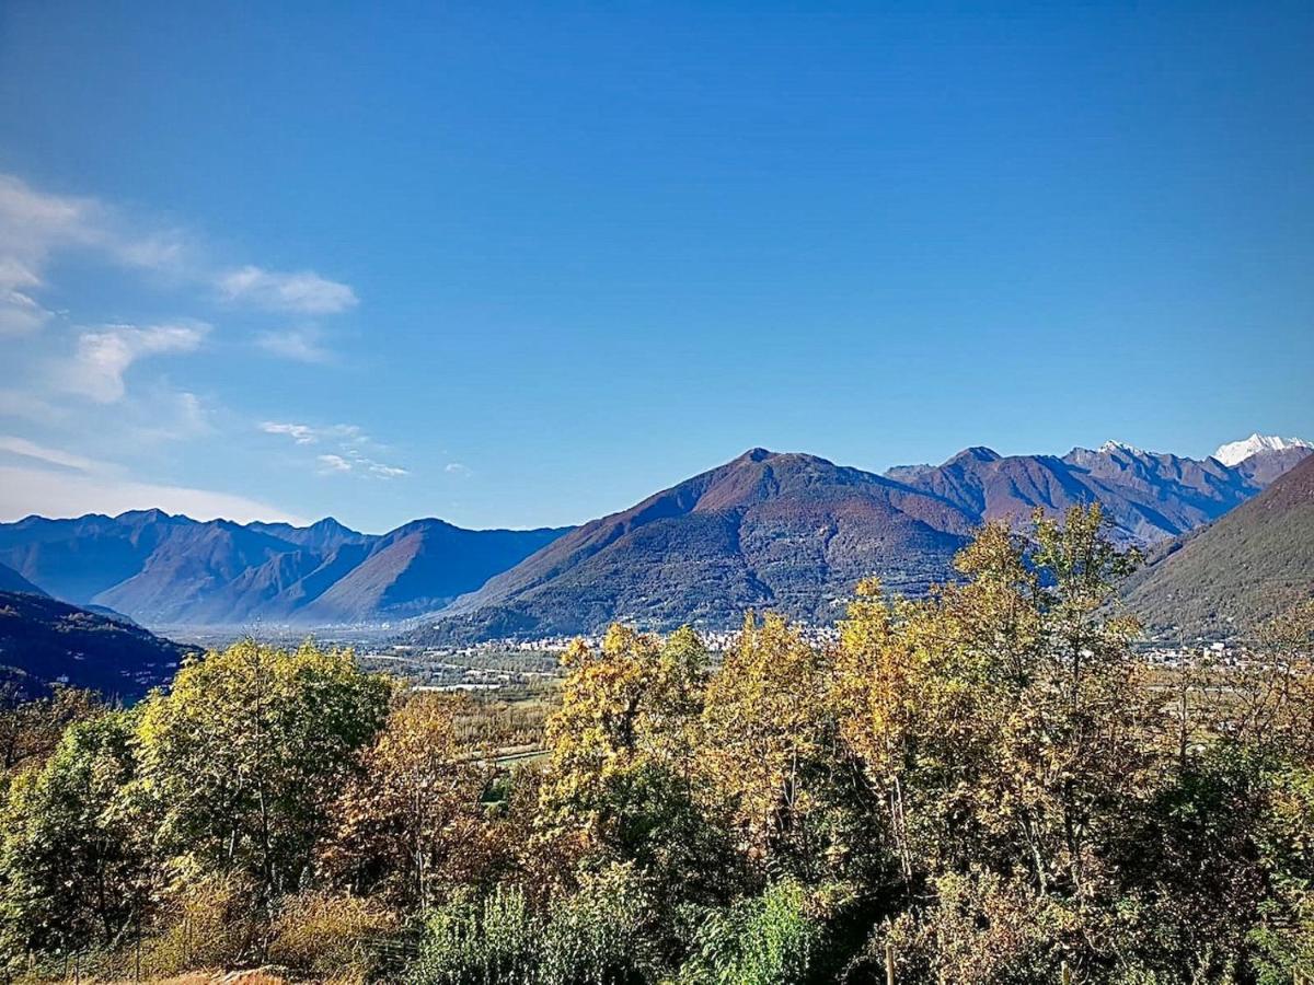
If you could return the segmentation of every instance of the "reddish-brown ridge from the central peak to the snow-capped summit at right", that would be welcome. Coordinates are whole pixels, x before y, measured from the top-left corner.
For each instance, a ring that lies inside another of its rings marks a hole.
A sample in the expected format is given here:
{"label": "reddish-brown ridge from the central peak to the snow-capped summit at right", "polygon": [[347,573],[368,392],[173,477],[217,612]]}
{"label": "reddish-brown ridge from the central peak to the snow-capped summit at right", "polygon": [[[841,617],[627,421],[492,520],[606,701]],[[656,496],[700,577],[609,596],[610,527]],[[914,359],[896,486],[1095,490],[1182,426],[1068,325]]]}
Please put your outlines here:
{"label": "reddish-brown ridge from the central peak to the snow-capped summit at right", "polygon": [[1247,470],[1112,441],[1063,457],[974,447],[876,475],[756,448],[576,528],[431,613],[413,638],[589,633],[616,619],[727,628],[749,607],[828,623],[858,579],[924,591],[953,577],[976,527],[1022,524],[1035,507],[1101,502],[1123,542],[1166,542],[1257,495],[1259,460],[1290,450],[1260,449]]}

